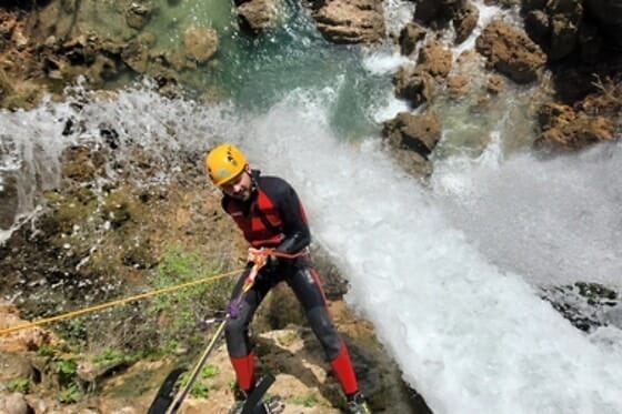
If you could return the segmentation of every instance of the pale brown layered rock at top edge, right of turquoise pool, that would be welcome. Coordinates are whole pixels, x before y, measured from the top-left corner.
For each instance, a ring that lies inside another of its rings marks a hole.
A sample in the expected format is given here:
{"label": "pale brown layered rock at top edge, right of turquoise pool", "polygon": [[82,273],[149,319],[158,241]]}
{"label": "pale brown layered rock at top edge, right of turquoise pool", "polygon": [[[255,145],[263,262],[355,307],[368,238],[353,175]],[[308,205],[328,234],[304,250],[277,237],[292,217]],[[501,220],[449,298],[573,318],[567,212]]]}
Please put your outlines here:
{"label": "pale brown layered rock at top edge, right of turquoise pool", "polygon": [[311,7],[320,32],[335,43],[374,43],[384,38],[381,0],[320,0]]}

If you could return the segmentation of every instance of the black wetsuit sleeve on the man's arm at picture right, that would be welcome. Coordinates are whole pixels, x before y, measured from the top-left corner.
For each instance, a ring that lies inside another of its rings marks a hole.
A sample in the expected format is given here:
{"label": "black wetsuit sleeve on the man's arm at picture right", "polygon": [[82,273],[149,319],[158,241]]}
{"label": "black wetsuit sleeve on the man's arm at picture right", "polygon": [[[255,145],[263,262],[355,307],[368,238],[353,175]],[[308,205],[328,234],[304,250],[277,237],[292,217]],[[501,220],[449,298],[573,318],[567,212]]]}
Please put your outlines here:
{"label": "black wetsuit sleeve on the man's arm at picture right", "polygon": [[291,185],[283,189],[278,203],[285,239],[277,248],[278,252],[293,254],[311,243],[311,232],[300,199]]}

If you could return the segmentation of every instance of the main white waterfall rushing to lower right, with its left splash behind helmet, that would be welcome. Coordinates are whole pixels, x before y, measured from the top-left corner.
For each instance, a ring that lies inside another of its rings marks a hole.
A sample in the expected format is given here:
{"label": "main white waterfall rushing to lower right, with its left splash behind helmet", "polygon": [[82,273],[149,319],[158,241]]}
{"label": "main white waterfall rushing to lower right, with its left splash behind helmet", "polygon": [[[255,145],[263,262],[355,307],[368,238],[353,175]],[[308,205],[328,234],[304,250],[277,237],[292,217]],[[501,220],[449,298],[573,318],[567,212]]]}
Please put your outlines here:
{"label": "main white waterfall rushing to lower right, with its left splash behind helmet", "polygon": [[[84,124],[68,140],[99,142],[106,122],[119,133],[119,156],[133,141],[168,164],[180,153],[200,163],[218,135],[231,140],[254,166],[297,188],[314,236],[350,280],[349,302],[435,413],[622,412],[618,330],[599,331],[596,341],[573,329],[520,276],[492,265],[375,143],[339,143],[330,105],[300,94],[240,120],[222,108],[123,92],[80,110],[17,114],[32,123],[17,137],[60,135],[71,114]],[[50,142],[33,155],[53,145],[60,153],[61,140]]]}

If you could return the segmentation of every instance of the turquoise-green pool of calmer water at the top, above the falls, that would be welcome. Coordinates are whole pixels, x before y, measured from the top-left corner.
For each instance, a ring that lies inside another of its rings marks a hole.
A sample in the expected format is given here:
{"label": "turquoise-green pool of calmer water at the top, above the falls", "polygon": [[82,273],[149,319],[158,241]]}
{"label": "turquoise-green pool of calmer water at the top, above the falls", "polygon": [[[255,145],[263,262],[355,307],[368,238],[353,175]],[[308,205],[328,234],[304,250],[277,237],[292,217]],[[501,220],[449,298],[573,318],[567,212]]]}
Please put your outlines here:
{"label": "turquoise-green pool of calmer water at the top, above the falls", "polygon": [[342,137],[377,134],[372,108],[382,104],[391,90],[388,74],[374,74],[362,65],[360,46],[328,42],[315,29],[300,1],[282,1],[274,29],[253,36],[238,24],[230,2],[182,1],[160,4],[148,30],[157,33],[158,48],[179,48],[189,26],[217,30],[215,55],[192,74],[200,94],[215,90],[244,112],[262,112],[293,90],[311,94],[333,93],[331,124]]}

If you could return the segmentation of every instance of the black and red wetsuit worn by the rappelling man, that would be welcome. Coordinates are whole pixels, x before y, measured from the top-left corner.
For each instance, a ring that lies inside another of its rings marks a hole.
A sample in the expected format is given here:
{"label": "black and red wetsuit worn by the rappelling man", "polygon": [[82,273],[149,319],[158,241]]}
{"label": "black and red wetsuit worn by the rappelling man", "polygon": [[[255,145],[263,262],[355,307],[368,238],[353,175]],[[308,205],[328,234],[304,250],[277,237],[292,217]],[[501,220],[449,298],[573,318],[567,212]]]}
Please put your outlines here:
{"label": "black and red wetsuit worn by the rappelling man", "polygon": [[[279,252],[295,254],[309,246],[311,234],[304,209],[290,184],[275,176],[260,175],[252,171],[254,189],[248,201],[224,195],[222,208],[231,215],[255,249],[274,248]],[[238,297],[250,265],[241,275],[232,299]],[[249,324],[254,312],[270,289],[285,281],[302,304],[311,329],[320,340],[327,359],[349,395],[358,391],[357,378],[345,344],[340,339],[329,316],[327,300],[310,255],[295,259],[279,258],[262,267],[254,285],[247,292],[237,317],[225,327],[227,347],[241,390],[249,391],[254,384],[254,362],[249,342]]]}

